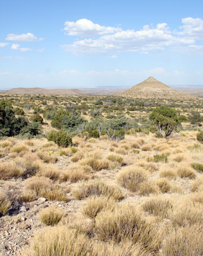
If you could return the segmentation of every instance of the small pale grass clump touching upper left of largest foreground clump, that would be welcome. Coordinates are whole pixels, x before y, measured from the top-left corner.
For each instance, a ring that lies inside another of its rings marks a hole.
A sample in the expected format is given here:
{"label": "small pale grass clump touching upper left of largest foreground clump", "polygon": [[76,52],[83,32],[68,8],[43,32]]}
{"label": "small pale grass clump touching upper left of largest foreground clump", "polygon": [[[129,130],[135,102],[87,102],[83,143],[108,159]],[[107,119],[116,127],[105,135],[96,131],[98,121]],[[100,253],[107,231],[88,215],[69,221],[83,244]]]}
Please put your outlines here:
{"label": "small pale grass clump touching upper left of largest foreground clump", "polygon": [[106,196],[92,196],[87,199],[86,206],[82,210],[82,214],[94,219],[96,215],[102,211],[107,209],[113,209],[116,205],[113,198],[109,198]]}

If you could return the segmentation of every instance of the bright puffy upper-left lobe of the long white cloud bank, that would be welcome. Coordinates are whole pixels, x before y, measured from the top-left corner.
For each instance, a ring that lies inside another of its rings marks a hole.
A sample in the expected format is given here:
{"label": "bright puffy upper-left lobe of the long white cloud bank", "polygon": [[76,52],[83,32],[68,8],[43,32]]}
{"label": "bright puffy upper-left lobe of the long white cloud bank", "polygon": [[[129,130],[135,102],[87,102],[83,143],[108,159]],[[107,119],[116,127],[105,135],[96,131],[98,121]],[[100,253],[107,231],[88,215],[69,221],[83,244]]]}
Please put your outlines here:
{"label": "bright puffy upper-left lobe of the long white cloud bank", "polygon": [[87,19],[80,19],[76,22],[66,21],[64,26],[64,31],[67,32],[69,36],[80,37],[95,37],[102,34],[112,34],[118,31],[122,31],[121,28],[101,26]]}

